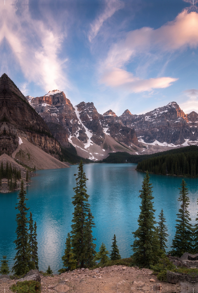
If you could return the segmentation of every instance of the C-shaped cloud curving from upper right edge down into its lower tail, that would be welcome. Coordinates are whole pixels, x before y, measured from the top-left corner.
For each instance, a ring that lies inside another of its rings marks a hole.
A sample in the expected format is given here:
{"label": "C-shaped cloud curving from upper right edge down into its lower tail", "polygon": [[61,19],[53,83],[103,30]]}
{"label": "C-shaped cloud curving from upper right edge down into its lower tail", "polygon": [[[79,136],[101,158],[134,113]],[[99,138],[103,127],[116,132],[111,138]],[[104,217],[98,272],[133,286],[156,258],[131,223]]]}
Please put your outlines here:
{"label": "C-shaped cloud curving from upper right edge down into its lower tail", "polygon": [[[198,13],[186,8],[174,21],[170,21],[154,30],[143,27],[127,33],[126,38],[112,45],[107,58],[101,64],[100,82],[107,86],[124,86],[131,92],[150,91],[154,88],[166,88],[177,78],[157,77],[140,79],[126,71],[124,66],[154,52],[155,55],[173,53],[185,47],[198,46]],[[153,54],[152,54],[153,55]],[[149,57],[148,57],[149,58]],[[149,63],[149,62],[148,62]]]}

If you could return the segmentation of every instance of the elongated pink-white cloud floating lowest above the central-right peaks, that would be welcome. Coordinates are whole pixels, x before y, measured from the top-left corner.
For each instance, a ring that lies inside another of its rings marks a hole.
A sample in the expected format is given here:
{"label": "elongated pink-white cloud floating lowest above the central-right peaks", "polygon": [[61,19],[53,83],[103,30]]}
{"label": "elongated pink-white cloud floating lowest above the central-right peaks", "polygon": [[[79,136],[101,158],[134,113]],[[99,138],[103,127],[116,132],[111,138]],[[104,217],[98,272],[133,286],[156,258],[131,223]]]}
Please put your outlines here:
{"label": "elongated pink-white cloud floating lowest above the central-right peaks", "polygon": [[140,93],[152,91],[154,88],[167,88],[178,79],[171,77],[158,77],[150,79],[140,79],[124,69],[112,68],[105,72],[100,82],[112,87],[124,87],[129,92]]}

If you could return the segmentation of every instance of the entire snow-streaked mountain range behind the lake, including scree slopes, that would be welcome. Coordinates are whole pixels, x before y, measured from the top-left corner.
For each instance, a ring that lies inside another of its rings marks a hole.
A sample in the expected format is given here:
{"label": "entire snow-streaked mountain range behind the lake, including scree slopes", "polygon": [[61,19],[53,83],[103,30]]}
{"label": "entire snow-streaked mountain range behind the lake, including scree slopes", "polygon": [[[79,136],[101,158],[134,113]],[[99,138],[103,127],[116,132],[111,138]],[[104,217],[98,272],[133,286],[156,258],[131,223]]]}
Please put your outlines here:
{"label": "entire snow-streaked mountain range behind the lake, including scree slopes", "polygon": [[112,110],[99,114],[92,102],[73,106],[59,90],[26,99],[63,147],[71,143],[88,159],[101,160],[116,151],[151,154],[198,144],[198,114],[185,114],[176,102],[141,115],[127,109],[117,116]]}

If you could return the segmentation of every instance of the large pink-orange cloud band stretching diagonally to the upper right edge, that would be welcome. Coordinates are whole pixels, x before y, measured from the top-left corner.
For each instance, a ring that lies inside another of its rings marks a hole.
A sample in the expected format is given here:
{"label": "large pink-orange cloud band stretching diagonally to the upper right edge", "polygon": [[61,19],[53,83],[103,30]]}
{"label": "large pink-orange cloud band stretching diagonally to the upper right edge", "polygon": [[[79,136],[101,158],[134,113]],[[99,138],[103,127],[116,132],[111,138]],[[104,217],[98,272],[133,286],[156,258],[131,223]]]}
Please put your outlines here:
{"label": "large pink-orange cloud band stretching diagonally to the upper right edge", "polygon": [[121,67],[126,62],[140,54],[151,51],[174,52],[184,47],[198,46],[198,13],[184,9],[174,21],[170,21],[160,28],[143,27],[128,32],[126,38],[114,44],[105,60],[107,67]]}

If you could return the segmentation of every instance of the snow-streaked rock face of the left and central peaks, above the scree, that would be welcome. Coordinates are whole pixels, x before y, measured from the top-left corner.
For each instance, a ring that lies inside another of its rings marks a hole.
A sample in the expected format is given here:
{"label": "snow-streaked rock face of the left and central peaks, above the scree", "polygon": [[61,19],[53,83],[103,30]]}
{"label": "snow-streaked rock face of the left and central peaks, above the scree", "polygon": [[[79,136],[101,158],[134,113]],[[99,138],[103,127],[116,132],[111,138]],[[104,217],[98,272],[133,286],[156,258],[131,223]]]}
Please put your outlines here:
{"label": "snow-streaked rock face of the left and central peaks, above the scree", "polygon": [[100,146],[105,141],[105,134],[128,146],[131,143],[138,145],[136,132],[126,127],[112,110],[101,115],[92,102],[81,102],[73,107],[59,90],[50,91],[42,97],[26,98],[44,119],[53,136],[65,147],[71,137],[76,137],[84,144],[90,138]]}

